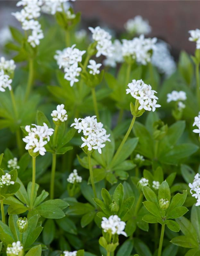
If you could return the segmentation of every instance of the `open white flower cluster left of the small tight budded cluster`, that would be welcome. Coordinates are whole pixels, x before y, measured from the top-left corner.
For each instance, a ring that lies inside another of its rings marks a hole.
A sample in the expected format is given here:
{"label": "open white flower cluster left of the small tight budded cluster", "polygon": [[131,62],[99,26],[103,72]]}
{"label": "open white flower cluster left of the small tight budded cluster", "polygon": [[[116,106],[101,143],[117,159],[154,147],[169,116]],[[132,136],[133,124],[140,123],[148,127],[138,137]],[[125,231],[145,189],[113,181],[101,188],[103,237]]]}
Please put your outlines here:
{"label": "open white flower cluster left of the small tight budded cluster", "polygon": [[48,128],[48,126],[43,123],[43,126],[32,124],[34,127],[30,128],[30,125],[25,127],[28,136],[23,138],[26,143],[26,150],[33,150],[34,153],[39,152],[41,156],[44,156],[46,149],[45,145],[50,140],[50,136],[54,133],[54,129]]}

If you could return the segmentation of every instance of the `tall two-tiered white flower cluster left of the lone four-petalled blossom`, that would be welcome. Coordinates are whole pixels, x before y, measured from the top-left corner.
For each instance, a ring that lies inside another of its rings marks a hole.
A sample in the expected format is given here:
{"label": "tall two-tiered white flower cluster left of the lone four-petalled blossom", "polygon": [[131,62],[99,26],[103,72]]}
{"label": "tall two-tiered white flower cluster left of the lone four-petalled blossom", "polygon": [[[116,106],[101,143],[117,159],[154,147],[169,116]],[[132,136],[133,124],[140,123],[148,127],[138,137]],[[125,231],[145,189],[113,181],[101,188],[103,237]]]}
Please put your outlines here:
{"label": "tall two-tiered white flower cluster left of the lone four-petalled blossom", "polygon": [[56,51],[54,56],[59,68],[64,68],[64,78],[70,81],[70,86],[78,82],[78,76],[80,75],[81,68],[78,67],[78,62],[82,61],[82,56],[86,51],[80,51],[75,48],[76,44],[72,47],[67,47],[64,50]]}

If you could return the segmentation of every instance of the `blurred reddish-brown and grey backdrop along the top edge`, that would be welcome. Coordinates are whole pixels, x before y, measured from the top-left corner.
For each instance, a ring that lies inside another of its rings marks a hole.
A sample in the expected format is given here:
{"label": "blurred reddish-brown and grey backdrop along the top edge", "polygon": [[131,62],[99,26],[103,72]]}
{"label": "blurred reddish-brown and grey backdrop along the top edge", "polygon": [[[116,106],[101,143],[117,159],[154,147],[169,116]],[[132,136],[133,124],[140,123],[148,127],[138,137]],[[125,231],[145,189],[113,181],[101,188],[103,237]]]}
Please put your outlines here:
{"label": "blurred reddish-brown and grey backdrop along the top edge", "polygon": [[[10,14],[16,11],[16,2],[0,0],[0,29],[18,24]],[[82,12],[83,27],[100,24],[122,32],[128,19],[141,15],[149,20],[150,36],[168,42],[175,58],[181,49],[194,52],[188,30],[200,28],[199,0],[76,0],[72,4]]]}

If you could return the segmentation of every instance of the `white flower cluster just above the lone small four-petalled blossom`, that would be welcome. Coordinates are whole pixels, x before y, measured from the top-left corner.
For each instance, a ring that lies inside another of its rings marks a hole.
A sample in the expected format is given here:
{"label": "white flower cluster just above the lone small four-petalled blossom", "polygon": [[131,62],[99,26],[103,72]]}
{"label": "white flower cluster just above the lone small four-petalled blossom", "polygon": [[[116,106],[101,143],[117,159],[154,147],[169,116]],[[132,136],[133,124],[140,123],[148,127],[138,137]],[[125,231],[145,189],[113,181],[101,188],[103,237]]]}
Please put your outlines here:
{"label": "white flower cluster just above the lone small four-petalled blossom", "polygon": [[89,27],[89,30],[92,32],[92,39],[97,42],[96,57],[99,57],[101,55],[112,56],[112,36],[107,31],[100,28],[100,26],[96,28]]}

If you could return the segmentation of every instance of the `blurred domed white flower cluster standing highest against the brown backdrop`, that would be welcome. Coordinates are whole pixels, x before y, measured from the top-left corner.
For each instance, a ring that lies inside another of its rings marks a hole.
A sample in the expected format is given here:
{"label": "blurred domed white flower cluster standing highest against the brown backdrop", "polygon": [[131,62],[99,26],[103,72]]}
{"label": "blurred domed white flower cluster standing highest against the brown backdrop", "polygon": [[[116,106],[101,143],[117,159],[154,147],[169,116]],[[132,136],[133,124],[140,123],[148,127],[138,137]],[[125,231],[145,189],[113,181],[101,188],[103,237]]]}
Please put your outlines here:
{"label": "blurred domed white flower cluster standing highest against the brown backdrop", "polygon": [[144,20],[142,16],[137,15],[135,18],[128,20],[124,27],[128,33],[131,34],[149,34],[151,32],[151,26],[149,25],[148,20]]}

